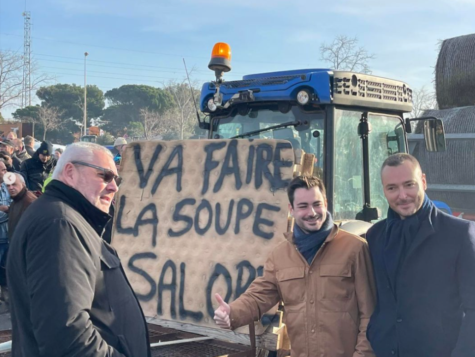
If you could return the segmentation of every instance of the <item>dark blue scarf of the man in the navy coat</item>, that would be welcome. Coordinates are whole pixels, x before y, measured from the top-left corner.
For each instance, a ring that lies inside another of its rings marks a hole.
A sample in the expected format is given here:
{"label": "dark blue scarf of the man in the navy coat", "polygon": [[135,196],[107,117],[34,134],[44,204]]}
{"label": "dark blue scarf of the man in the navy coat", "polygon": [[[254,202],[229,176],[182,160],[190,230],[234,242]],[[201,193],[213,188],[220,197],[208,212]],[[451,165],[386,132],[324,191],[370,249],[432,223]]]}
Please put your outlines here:
{"label": "dark blue scarf of the man in the navy coat", "polygon": [[396,291],[397,274],[406,254],[419,231],[422,221],[427,219],[433,207],[434,204],[425,195],[421,208],[405,219],[401,219],[399,214],[393,211],[391,207],[387,210],[383,259],[393,292]]}

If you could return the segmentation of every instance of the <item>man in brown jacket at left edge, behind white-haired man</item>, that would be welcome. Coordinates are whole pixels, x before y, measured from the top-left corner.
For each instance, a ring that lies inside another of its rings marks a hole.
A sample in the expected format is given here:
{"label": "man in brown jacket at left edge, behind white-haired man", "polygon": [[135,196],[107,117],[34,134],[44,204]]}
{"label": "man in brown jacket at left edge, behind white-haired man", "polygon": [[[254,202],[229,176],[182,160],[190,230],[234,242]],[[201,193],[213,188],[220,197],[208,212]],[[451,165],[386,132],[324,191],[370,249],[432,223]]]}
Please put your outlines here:
{"label": "man in brown jacket at left edge, behind white-haired man", "polygon": [[37,197],[31,191],[28,191],[25,179],[18,173],[6,173],[3,176],[3,181],[6,183],[8,193],[13,199],[8,209],[8,240],[11,240],[21,215]]}

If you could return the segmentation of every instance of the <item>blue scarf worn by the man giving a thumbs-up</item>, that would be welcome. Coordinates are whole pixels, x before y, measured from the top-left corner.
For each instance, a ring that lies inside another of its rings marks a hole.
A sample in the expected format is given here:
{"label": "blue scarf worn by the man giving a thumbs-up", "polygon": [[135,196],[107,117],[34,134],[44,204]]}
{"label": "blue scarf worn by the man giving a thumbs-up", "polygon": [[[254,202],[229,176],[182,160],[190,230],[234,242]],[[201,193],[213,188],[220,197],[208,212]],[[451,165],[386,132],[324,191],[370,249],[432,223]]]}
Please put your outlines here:
{"label": "blue scarf worn by the man giving a thumbs-up", "polygon": [[316,232],[305,233],[298,225],[293,227],[293,243],[297,247],[301,255],[307,259],[310,264],[317,254],[322,244],[333,228],[333,218],[330,212],[327,212],[327,219],[323,223],[320,230]]}

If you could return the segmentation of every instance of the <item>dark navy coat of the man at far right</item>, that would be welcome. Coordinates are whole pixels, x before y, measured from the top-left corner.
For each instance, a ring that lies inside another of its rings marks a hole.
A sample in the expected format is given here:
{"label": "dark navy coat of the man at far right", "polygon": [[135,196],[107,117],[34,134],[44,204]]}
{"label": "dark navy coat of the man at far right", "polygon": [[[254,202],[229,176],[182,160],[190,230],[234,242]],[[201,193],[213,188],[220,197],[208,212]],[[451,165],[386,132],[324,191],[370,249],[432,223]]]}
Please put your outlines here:
{"label": "dark navy coat of the man at far right", "polygon": [[378,357],[475,356],[475,224],[434,208],[391,288],[382,252],[386,220],[366,239],[378,301],[367,337]]}

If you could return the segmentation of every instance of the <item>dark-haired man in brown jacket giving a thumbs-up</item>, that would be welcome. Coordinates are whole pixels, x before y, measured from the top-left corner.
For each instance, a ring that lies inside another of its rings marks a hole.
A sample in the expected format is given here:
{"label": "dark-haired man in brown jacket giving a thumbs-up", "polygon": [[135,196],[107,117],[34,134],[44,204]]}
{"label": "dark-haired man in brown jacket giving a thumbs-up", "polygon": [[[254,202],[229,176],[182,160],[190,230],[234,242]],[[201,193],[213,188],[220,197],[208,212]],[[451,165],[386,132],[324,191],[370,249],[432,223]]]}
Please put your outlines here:
{"label": "dark-haired man in brown jacket giving a thumbs-up", "polygon": [[228,305],[216,294],[216,323],[235,329],[282,301],[292,357],[374,357],[366,339],[376,299],[366,241],[333,224],[319,178],[298,176],[287,192],[294,232],[237,300]]}

